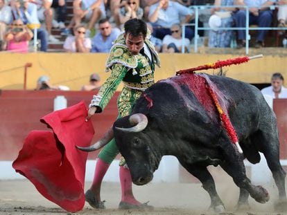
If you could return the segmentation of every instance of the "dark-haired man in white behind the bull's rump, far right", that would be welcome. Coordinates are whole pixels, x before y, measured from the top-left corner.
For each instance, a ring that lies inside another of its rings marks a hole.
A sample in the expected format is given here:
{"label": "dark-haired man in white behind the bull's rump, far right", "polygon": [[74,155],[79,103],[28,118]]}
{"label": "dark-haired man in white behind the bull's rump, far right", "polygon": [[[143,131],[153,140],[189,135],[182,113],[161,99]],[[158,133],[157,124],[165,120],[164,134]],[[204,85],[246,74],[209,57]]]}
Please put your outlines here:
{"label": "dark-haired man in white behind the bull's rump, far right", "polygon": [[271,77],[271,86],[263,88],[263,95],[270,95],[273,99],[287,98],[287,88],[283,86],[284,77],[281,73],[274,73]]}

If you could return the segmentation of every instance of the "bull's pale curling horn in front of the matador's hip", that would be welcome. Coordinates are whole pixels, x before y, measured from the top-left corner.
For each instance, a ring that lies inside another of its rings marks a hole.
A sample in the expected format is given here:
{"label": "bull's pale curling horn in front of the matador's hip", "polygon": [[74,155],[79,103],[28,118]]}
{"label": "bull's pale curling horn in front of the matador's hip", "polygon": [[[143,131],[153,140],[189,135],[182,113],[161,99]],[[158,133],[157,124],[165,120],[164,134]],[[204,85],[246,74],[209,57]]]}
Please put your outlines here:
{"label": "bull's pale curling horn in front of the matador's hip", "polygon": [[121,131],[125,132],[139,132],[143,131],[143,129],[146,129],[146,126],[148,125],[148,118],[146,115],[142,113],[135,113],[130,116],[129,118],[130,124],[134,124],[134,127],[131,128],[119,128],[116,127],[116,129],[119,129]]}

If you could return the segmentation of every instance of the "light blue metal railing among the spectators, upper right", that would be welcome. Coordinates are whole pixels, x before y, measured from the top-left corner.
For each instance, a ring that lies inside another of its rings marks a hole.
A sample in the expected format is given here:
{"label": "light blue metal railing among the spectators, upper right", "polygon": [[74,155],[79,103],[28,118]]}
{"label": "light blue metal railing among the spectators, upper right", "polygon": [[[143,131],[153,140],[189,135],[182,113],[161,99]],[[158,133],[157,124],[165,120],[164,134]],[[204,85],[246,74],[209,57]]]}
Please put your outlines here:
{"label": "light blue metal railing among the spectators, upper right", "polygon": [[[246,10],[246,22],[245,22],[245,27],[244,28],[238,28],[238,27],[221,27],[218,28],[218,30],[245,30],[245,53],[246,55],[249,53],[249,44],[250,44],[250,30],[287,30],[287,27],[250,27],[249,24],[249,7],[247,6],[190,6],[194,11],[195,15],[195,23],[194,24],[182,24],[182,53],[184,53],[184,35],[185,35],[185,28],[186,26],[194,26],[194,53],[198,53],[198,31],[199,30],[211,30],[210,27],[199,27],[198,26],[198,21],[199,21],[199,10],[204,10],[204,9],[211,9],[211,8],[245,8]],[[275,10],[277,6],[270,6],[270,10]]]}

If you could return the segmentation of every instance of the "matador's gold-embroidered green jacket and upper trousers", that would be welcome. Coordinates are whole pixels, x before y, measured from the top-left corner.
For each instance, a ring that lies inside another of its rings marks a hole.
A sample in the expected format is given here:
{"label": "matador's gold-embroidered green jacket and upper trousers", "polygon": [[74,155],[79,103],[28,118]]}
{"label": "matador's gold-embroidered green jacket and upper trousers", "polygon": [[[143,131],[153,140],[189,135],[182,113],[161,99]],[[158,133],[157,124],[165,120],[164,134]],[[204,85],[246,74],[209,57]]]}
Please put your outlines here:
{"label": "matador's gold-embroidered green jacket and upper trousers", "polygon": [[97,106],[97,112],[103,111],[110,102],[116,88],[123,81],[123,90],[118,97],[119,117],[130,114],[132,105],[141,93],[155,83],[155,65],[160,66],[159,56],[149,39],[145,40],[152,59],[144,54],[132,55],[125,45],[123,34],[120,35],[110,50],[105,64],[106,71],[112,71],[97,95],[94,95],[91,106]]}

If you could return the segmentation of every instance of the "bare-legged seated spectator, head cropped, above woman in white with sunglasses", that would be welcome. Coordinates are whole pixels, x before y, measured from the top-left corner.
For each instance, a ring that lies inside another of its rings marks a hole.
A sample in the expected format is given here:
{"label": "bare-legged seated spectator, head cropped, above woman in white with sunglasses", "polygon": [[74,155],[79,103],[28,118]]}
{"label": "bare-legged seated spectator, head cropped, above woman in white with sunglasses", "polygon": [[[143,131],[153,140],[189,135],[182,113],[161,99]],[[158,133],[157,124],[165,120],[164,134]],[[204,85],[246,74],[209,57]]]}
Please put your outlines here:
{"label": "bare-legged seated spectator, head cropped, above woman in white with sunglasses", "polygon": [[88,21],[86,37],[89,37],[92,28],[94,28],[96,22],[101,17],[105,17],[105,4],[103,0],[74,0],[73,19],[69,24],[69,28],[73,25],[78,26],[81,21]]}

